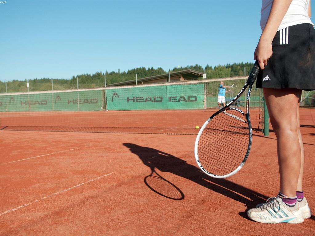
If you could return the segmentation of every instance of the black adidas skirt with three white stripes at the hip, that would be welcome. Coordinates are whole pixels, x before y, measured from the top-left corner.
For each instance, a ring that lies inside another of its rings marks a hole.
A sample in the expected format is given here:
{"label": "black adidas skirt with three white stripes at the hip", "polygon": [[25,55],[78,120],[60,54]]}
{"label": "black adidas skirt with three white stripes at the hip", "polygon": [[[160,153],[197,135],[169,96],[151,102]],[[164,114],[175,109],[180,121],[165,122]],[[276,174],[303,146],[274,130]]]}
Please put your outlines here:
{"label": "black adidas skirt with three white stripes at the hip", "polygon": [[315,29],[311,24],[277,31],[272,56],[260,71],[256,87],[315,90]]}

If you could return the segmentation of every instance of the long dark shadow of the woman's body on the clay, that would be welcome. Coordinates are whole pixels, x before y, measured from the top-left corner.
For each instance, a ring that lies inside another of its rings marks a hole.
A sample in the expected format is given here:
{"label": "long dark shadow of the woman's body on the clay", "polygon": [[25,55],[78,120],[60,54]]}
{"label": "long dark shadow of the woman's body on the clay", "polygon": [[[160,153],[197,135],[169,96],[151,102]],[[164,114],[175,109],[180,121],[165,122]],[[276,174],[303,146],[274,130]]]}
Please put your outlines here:
{"label": "long dark shadow of the woman's body on the clay", "polygon": [[143,164],[151,170],[157,168],[159,171],[173,173],[189,179],[205,188],[239,201],[248,208],[255,207],[257,203],[265,202],[268,198],[226,179],[209,177],[196,166],[163,151],[142,147],[134,143],[123,143],[123,145],[129,148],[132,153],[138,155]]}

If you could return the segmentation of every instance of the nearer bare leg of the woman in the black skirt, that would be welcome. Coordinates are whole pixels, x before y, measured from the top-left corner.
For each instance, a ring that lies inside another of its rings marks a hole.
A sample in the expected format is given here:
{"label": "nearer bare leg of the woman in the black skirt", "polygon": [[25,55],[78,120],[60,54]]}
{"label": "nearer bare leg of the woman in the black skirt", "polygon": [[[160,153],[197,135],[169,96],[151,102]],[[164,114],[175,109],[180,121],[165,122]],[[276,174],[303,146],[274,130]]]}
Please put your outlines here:
{"label": "nearer bare leg of the woman in the black skirt", "polygon": [[301,147],[298,136],[299,95],[295,88],[264,88],[272,128],[277,136],[280,191],[295,197],[301,170]]}

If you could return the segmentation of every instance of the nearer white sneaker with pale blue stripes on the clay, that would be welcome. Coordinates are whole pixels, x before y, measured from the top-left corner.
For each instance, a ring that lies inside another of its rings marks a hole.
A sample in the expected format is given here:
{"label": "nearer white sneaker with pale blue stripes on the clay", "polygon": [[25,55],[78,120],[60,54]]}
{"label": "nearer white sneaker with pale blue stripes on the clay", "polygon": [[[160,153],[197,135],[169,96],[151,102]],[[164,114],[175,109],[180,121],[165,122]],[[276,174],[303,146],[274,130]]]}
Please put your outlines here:
{"label": "nearer white sneaker with pale blue stripes on the clay", "polygon": [[266,203],[259,204],[257,208],[249,209],[247,216],[253,221],[267,224],[299,224],[304,221],[298,203],[293,207],[289,207],[278,196],[269,198]]}

